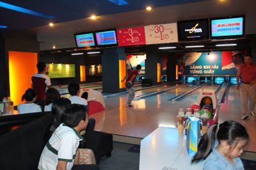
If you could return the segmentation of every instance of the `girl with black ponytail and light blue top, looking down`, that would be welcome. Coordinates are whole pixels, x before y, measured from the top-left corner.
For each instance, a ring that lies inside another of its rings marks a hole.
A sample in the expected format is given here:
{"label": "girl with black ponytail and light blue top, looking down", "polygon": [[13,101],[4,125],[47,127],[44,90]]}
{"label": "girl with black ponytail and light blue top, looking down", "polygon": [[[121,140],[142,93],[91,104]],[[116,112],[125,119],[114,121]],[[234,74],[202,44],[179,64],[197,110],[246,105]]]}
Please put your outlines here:
{"label": "girl with black ponytail and light blue top, looking down", "polygon": [[[218,132],[216,132],[217,130]],[[229,120],[223,124],[211,125],[207,131],[204,144],[191,162],[206,159],[204,164],[205,170],[244,169],[243,162],[239,156],[243,153],[243,148],[249,140],[246,129],[238,122]]]}

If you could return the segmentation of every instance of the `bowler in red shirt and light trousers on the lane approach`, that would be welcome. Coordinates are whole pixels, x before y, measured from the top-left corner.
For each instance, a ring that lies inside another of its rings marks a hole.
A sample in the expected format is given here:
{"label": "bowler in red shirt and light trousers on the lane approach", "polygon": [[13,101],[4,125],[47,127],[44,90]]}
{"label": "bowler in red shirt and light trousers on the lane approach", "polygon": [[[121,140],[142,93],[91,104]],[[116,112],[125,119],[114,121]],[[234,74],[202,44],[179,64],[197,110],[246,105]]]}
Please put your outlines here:
{"label": "bowler in red shirt and light trousers on the lane approach", "polygon": [[[138,75],[138,73],[140,72],[141,70],[141,66],[140,64],[137,65],[136,69],[132,70],[129,74],[128,74],[128,77],[125,81],[125,83],[127,82],[131,82],[132,83],[132,87],[130,89],[127,89],[127,91],[129,91],[129,97],[128,97],[128,101],[127,101],[127,107],[133,107],[133,105],[131,104],[132,102],[132,99],[134,98],[135,96],[135,91],[134,91],[134,87],[133,87],[133,83],[136,79],[136,76]],[[126,76],[125,76],[126,77]],[[124,78],[125,80],[125,78]],[[124,80],[122,80],[122,82],[124,82]]]}

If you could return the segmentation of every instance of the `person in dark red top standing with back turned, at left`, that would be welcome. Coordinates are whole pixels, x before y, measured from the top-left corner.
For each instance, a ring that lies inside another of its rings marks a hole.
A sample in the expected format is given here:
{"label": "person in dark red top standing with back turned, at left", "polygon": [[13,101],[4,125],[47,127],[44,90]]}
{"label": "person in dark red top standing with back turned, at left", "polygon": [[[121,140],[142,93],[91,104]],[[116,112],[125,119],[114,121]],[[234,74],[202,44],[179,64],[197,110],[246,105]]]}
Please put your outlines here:
{"label": "person in dark red top standing with back turned, at left", "polygon": [[42,107],[42,110],[44,111],[45,106],[45,88],[48,87],[48,89],[52,88],[51,80],[49,76],[45,76],[45,70],[46,65],[44,62],[38,62],[36,64],[36,67],[38,69],[38,73],[34,74],[31,78],[31,87],[32,89],[35,89],[37,92],[37,99],[36,104]]}

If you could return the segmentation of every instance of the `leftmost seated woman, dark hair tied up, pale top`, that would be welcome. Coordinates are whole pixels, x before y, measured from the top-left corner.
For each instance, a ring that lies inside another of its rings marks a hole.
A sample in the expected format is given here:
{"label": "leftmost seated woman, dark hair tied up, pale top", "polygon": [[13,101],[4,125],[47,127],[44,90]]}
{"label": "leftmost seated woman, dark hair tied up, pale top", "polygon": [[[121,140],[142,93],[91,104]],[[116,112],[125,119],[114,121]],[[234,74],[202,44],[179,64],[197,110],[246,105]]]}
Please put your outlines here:
{"label": "leftmost seated woman, dark hair tied up, pale top", "polygon": [[19,114],[42,111],[41,106],[35,104],[36,98],[36,90],[30,88],[26,90],[25,94],[21,98],[21,101],[24,101],[25,99],[27,102],[18,105]]}

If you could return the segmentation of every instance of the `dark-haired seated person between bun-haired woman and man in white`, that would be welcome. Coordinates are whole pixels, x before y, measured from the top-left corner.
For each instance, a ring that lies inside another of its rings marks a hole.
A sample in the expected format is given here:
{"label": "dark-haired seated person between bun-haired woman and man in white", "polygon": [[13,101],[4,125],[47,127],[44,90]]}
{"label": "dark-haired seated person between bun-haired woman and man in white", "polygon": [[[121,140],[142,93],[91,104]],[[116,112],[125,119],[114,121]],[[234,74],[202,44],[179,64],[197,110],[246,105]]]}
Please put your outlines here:
{"label": "dark-haired seated person between bun-haired woman and man in white", "polygon": [[52,111],[52,102],[59,98],[60,98],[60,92],[57,89],[55,88],[48,89],[45,93],[44,111]]}

